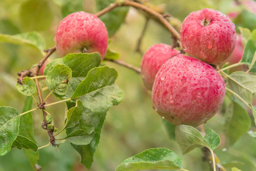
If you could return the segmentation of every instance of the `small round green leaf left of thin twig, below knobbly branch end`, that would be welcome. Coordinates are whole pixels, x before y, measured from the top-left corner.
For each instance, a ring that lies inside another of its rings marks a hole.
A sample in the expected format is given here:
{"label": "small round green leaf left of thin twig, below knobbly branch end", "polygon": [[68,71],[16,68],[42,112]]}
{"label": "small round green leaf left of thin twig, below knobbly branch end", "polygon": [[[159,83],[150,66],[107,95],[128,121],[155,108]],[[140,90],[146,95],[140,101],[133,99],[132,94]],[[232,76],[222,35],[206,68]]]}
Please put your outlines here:
{"label": "small round green leaf left of thin twig, below knobbly branch end", "polygon": [[23,78],[21,83],[16,83],[15,86],[18,91],[25,96],[31,96],[36,92],[36,84],[34,80],[30,78]]}

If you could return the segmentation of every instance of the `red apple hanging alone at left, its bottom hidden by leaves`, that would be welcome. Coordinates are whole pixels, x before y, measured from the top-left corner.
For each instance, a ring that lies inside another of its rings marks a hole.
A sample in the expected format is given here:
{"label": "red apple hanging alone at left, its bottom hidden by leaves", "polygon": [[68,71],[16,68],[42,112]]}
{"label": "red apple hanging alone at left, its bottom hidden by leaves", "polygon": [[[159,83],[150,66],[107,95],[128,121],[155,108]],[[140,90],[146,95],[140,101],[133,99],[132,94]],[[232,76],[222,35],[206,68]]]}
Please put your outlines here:
{"label": "red apple hanging alone at left, its bottom hidden by leaves", "polygon": [[108,46],[108,32],[94,14],[83,11],[67,15],[55,32],[56,51],[60,57],[70,53],[99,52],[104,58]]}

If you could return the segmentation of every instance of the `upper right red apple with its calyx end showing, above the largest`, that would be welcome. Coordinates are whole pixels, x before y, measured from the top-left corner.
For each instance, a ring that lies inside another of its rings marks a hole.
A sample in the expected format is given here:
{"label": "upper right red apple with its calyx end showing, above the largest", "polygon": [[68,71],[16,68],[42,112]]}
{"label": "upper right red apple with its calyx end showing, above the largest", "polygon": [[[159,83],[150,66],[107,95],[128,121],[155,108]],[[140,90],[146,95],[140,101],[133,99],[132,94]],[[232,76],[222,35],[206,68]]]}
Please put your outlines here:
{"label": "upper right red apple with its calyx end showing, above the largest", "polygon": [[180,39],[187,54],[218,65],[234,50],[235,25],[220,11],[194,11],[182,23]]}

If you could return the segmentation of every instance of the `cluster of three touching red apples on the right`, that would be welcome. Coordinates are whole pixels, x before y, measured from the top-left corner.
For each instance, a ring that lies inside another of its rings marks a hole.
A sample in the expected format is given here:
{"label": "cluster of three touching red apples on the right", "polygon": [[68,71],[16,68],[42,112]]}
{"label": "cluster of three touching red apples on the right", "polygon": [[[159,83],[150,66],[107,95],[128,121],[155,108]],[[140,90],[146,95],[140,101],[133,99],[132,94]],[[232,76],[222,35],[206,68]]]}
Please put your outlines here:
{"label": "cluster of three touching red apples on the right", "polygon": [[156,44],[143,56],[141,76],[159,115],[176,125],[196,127],[213,117],[224,101],[224,79],[210,64],[224,62],[233,52],[235,25],[220,11],[194,11],[182,23],[180,40],[190,56]]}

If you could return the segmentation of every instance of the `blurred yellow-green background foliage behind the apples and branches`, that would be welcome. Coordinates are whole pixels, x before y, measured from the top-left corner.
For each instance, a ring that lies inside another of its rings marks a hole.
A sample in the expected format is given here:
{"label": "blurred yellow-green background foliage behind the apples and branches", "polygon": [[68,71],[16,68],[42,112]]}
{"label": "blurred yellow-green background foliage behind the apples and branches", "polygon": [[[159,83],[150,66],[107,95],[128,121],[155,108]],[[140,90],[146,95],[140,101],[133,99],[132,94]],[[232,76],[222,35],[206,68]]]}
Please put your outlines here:
{"label": "blurred yellow-green background foliage behind the apples and branches", "polygon": [[[224,14],[235,12],[238,14],[233,22],[236,26],[247,27],[250,30],[256,28],[256,15],[250,9],[234,5],[231,0],[169,0],[169,1],[143,1],[156,5],[158,9],[165,10],[181,22],[192,11],[204,7],[222,11]],[[59,22],[74,11],[85,10],[96,12],[94,0],[0,0],[0,33],[19,34],[27,31],[38,31],[46,42],[46,47],[54,46],[54,34]],[[255,11],[254,11],[255,12]],[[141,55],[135,52],[137,39],[143,29],[145,17],[139,11],[130,9],[124,24],[111,37],[112,50],[120,52],[120,59],[134,66],[140,67]],[[177,22],[178,25],[178,22]],[[159,23],[149,21],[147,31],[143,38],[141,50],[156,43],[171,44],[171,35]],[[32,64],[38,63],[42,58],[39,51],[26,46],[0,43],[0,105],[14,107],[18,112],[22,111],[25,96],[15,88],[17,72],[29,69]],[[58,58],[54,53],[50,60]],[[112,107],[105,120],[100,144],[96,150],[94,163],[90,170],[115,170],[126,158],[143,152],[148,148],[165,147],[173,150],[183,160],[183,167],[188,170],[209,170],[209,166],[202,161],[201,149],[182,156],[172,130],[165,129],[164,121],[156,111],[152,109],[151,92],[144,88],[141,76],[132,70],[117,66],[110,62],[103,62],[114,67],[119,73],[116,84],[123,89],[124,99],[118,106]],[[45,81],[40,80],[41,87],[46,87]],[[48,90],[43,92],[46,97]],[[57,99],[51,96],[47,103]],[[57,128],[64,125],[65,104],[47,108],[54,116]],[[35,139],[38,146],[48,143],[46,131],[41,128],[42,113],[32,113],[34,119]],[[256,170],[256,139],[244,135],[235,145],[225,148],[225,136],[223,133],[224,116],[218,113],[205,128],[212,128],[221,137],[221,145],[215,150],[221,164],[234,162],[231,166],[237,166],[242,170]],[[79,163],[78,153],[71,145],[64,143],[60,148],[48,146],[39,150],[38,164],[42,170],[86,170]],[[0,171],[32,170],[22,150],[13,149],[10,153],[0,157]],[[227,170],[231,170],[227,168]]]}

